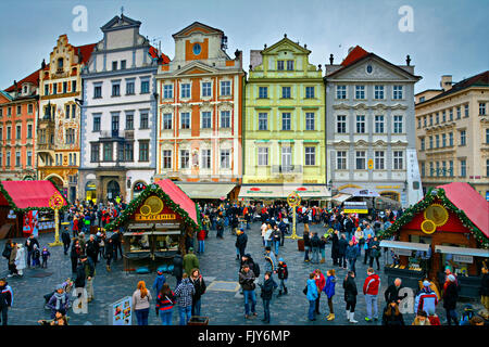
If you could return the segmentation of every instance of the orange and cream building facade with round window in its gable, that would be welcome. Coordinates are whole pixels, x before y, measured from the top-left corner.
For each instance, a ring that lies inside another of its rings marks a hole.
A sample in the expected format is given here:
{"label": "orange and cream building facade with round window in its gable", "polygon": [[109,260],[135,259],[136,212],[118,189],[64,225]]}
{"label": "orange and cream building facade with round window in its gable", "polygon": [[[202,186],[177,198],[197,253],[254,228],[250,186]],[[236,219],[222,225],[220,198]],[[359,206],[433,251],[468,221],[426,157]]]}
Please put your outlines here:
{"label": "orange and cream building facade with round window in its gable", "polygon": [[175,57],[156,76],[156,178],[192,198],[233,197],[242,176],[242,52],[229,57],[224,33],[198,22],[173,38]]}

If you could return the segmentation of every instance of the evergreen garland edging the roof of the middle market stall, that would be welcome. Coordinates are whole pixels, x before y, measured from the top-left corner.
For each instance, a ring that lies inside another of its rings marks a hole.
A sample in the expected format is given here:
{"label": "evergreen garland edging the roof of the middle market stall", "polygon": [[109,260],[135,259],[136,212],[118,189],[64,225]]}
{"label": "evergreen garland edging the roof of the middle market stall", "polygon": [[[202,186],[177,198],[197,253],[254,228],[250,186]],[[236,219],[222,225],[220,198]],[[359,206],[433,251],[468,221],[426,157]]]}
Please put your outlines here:
{"label": "evergreen garland edging the roof of the middle market stall", "polygon": [[[142,205],[142,203],[152,194],[155,194],[160,197],[166,206],[168,206],[173,211],[178,214],[185,223],[191,226],[193,230],[198,230],[201,226],[199,218],[199,210],[197,209],[197,220],[198,223],[193,219],[191,219],[188,213],[180,207],[180,205],[176,204],[162,189],[159,184],[152,183],[146,188],[137,197],[133,198],[133,201],[127,205],[127,208],[121,213],[121,215],[115,218],[112,222],[105,226],[105,230],[114,231],[123,226],[127,219],[133,216],[138,207]],[[197,206],[196,206],[197,208]]]}

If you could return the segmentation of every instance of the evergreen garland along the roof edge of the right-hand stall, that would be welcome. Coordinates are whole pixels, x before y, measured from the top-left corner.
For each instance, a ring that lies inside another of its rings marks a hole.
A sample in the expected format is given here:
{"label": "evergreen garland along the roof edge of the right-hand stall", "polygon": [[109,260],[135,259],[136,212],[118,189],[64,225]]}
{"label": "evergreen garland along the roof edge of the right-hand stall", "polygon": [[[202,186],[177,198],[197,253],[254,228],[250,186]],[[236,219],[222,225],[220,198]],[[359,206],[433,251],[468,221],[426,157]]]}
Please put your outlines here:
{"label": "evergreen garland along the roof edge of the right-hand stall", "polygon": [[404,214],[399,219],[397,219],[394,223],[392,223],[392,226],[384,231],[380,231],[378,235],[379,240],[391,237],[394,233],[399,232],[403,226],[413,220],[413,218],[417,214],[423,213],[426,208],[428,208],[429,205],[439,201],[439,203],[444,208],[449,209],[460,218],[462,224],[474,234],[475,240],[481,246],[481,248],[488,249],[489,239],[482,233],[479,228],[477,228],[472,222],[471,219],[468,219],[467,215],[465,215],[462,209],[459,209],[455,205],[452,204],[452,202],[447,197],[444,190],[438,188],[436,194],[431,194],[431,191],[432,189],[429,189],[426,193],[426,196],[414,206],[408,208]]}

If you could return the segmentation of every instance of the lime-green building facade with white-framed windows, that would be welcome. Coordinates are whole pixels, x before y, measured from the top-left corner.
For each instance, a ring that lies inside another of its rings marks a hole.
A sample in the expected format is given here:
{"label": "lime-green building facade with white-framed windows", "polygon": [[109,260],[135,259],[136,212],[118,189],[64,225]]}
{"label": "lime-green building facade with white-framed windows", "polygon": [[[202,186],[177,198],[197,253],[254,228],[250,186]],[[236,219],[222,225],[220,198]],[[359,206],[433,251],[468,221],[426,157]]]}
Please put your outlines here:
{"label": "lime-green building facade with white-framed windows", "polygon": [[[330,196],[326,188],[325,90],[311,51],[285,37],[250,52],[246,83],[243,185],[240,196]],[[284,187],[291,185],[290,192]],[[293,187],[292,187],[293,185]],[[280,191],[281,190],[281,191]],[[268,194],[269,195],[269,194]]]}

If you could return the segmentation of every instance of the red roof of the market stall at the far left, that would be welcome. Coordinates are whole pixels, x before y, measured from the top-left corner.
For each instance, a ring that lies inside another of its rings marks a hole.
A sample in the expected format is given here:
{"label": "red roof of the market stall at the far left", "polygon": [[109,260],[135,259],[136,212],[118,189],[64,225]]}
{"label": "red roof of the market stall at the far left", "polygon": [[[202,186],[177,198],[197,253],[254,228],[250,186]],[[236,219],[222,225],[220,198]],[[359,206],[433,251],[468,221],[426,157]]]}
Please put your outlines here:
{"label": "red roof of the market stall at the far left", "polygon": [[[1,181],[0,183],[17,208],[50,207],[49,198],[55,193],[60,194],[50,181]],[[0,205],[8,205],[3,194],[0,193]],[[64,198],[63,205],[67,205]]]}

